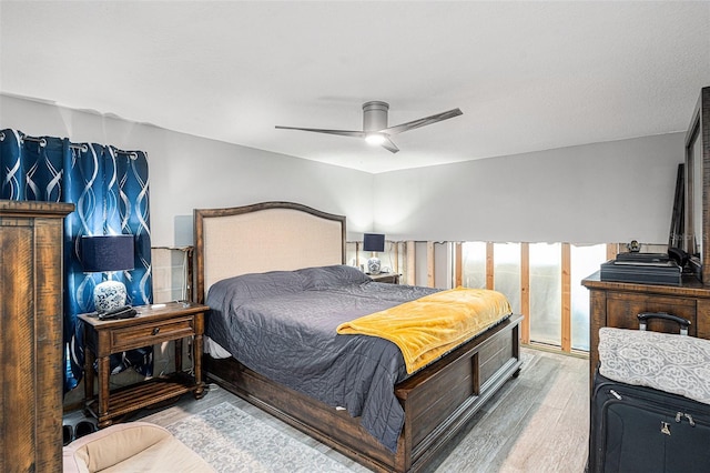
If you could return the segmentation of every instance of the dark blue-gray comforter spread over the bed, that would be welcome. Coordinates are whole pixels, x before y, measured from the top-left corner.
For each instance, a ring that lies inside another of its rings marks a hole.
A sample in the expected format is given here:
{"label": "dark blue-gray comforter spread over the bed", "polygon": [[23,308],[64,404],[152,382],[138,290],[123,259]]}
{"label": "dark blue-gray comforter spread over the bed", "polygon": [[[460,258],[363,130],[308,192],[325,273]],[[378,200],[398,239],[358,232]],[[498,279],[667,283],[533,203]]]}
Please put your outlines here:
{"label": "dark blue-gray comforter spread over the bed", "polygon": [[394,386],[407,376],[402,352],[336,328],[436,291],[376,283],[345,265],[245,274],[210,289],[206,334],[251,370],[361,416],[395,452],[404,411]]}

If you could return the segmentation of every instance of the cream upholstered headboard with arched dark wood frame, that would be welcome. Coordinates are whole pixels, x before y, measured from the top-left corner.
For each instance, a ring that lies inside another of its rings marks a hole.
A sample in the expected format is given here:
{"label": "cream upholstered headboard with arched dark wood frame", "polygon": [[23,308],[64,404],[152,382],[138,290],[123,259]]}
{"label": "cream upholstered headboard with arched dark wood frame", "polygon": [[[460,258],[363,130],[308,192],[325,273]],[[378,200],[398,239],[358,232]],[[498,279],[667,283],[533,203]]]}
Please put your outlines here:
{"label": "cream upholstered headboard with arched dark wood frame", "polygon": [[345,217],[293,202],[195,209],[193,298],[247,273],[345,263]]}

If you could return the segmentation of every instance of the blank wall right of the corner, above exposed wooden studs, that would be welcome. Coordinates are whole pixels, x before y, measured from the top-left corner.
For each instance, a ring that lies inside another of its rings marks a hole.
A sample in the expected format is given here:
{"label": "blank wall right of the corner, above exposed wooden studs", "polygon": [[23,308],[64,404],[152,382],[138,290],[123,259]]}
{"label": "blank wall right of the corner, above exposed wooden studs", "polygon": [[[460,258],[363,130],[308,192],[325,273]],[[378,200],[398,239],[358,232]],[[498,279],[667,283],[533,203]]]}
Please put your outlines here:
{"label": "blank wall right of the corner, above exposed wooden studs", "polygon": [[684,133],[375,175],[393,240],[666,243]]}

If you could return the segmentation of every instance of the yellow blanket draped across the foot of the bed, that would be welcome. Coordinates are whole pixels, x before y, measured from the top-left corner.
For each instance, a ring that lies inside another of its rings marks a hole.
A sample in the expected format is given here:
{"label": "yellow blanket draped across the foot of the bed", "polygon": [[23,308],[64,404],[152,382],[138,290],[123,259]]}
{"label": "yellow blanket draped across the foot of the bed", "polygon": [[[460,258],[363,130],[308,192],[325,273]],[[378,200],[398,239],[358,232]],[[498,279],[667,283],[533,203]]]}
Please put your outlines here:
{"label": "yellow blanket draped across the foot of the bed", "polygon": [[510,313],[510,303],[500,292],[456,288],[342,323],[337,333],[396,343],[407,373],[414,373]]}

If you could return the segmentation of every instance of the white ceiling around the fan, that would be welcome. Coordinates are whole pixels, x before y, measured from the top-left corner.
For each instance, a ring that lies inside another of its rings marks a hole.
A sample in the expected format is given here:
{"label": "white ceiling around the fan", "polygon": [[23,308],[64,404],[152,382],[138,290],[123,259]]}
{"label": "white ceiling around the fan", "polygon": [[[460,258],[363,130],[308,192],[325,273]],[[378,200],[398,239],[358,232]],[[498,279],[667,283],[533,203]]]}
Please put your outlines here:
{"label": "white ceiling around the fan", "polygon": [[[0,92],[384,172],[684,130],[710,2],[1,1]],[[362,130],[464,114],[394,137]],[[74,137],[72,137],[74,138]]]}

